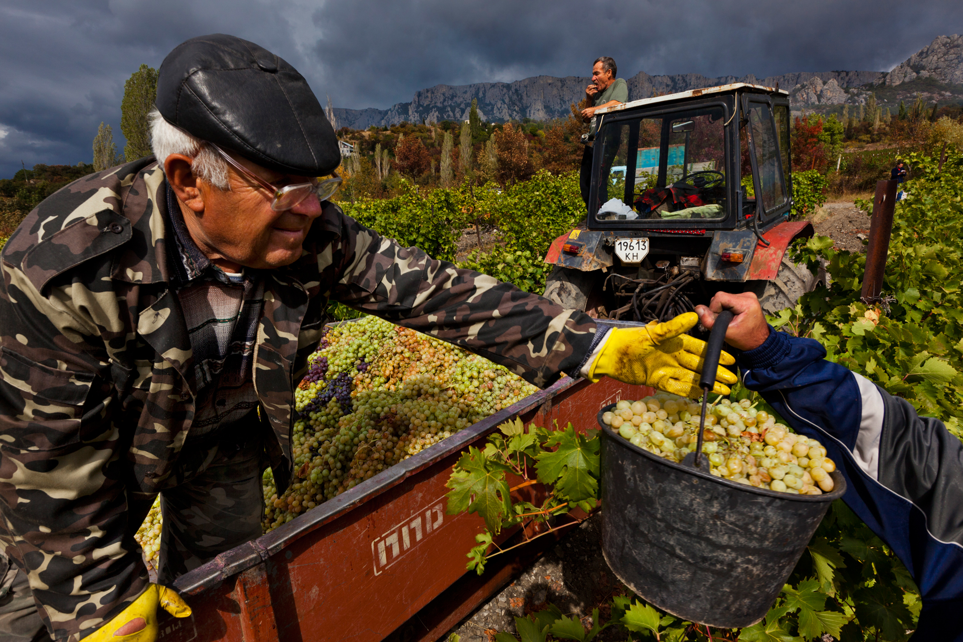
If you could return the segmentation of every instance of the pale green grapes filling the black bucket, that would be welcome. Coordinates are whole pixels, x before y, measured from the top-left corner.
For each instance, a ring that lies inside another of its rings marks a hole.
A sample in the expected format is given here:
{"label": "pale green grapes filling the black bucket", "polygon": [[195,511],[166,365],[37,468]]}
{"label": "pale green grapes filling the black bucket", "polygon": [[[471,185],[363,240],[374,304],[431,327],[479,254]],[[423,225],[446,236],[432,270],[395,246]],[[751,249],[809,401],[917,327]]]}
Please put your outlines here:
{"label": "pale green grapes filling the black bucket", "polygon": [[[660,393],[619,401],[602,421],[639,448],[681,462],[695,451],[701,411],[700,403]],[[738,483],[799,495],[833,489],[829,474],[836,464],[820,442],[777,424],[748,399],[723,398],[709,406],[702,451],[710,473]]]}

